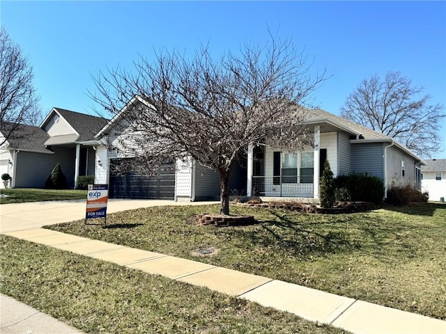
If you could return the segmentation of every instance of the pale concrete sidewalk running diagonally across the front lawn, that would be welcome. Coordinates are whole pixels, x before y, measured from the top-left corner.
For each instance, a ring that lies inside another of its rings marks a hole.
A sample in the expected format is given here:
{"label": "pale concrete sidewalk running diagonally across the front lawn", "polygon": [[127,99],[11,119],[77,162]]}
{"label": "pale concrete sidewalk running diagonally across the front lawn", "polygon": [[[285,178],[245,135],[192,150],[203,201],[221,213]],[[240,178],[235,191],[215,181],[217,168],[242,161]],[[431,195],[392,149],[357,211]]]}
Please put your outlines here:
{"label": "pale concrete sidewalk running diagonally across the front lawn", "polygon": [[[125,208],[127,209],[128,205],[125,205]],[[10,212],[9,215],[13,213]],[[305,319],[344,328],[353,333],[446,333],[446,321],[210,264],[42,228],[19,230],[6,228],[0,232],[192,285],[208,287],[261,305],[292,312]]]}

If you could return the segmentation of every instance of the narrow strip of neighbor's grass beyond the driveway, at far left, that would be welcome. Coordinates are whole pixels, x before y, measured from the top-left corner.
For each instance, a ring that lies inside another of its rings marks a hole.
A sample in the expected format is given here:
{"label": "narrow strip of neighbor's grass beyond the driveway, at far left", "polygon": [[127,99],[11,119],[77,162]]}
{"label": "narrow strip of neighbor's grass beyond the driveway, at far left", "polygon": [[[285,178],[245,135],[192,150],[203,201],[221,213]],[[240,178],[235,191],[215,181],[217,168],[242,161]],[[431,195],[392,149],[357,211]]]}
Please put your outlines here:
{"label": "narrow strip of neighbor's grass beyond the driveway, at far left", "polygon": [[1,189],[1,193],[9,197],[1,198],[0,204],[40,202],[43,200],[86,200],[86,190],[54,190],[54,189]]}

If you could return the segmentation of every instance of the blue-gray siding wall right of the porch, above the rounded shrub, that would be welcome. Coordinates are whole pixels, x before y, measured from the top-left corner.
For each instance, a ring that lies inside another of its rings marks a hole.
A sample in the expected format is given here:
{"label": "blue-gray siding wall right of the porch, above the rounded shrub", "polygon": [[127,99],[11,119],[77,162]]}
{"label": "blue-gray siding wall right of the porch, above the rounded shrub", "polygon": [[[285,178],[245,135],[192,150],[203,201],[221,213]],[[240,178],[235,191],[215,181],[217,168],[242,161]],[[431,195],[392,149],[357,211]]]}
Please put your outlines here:
{"label": "blue-gray siding wall right of the porch, above the rounded shrub", "polygon": [[383,144],[359,143],[351,145],[352,173],[368,173],[384,179]]}

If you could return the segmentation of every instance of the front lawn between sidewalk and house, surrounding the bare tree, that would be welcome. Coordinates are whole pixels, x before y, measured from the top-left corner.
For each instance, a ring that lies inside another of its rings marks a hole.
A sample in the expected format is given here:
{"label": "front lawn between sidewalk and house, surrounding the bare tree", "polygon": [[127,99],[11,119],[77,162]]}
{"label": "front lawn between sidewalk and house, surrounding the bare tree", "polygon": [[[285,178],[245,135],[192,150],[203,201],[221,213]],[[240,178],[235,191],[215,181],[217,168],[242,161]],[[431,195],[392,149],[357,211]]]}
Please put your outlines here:
{"label": "front lawn between sidewalk and house, surrounding the bare tree", "polygon": [[[424,203],[339,215],[231,207],[258,224],[191,223],[217,206],[151,207],[49,228],[285,280],[446,319],[446,205]],[[197,248],[215,248],[197,256]]]}

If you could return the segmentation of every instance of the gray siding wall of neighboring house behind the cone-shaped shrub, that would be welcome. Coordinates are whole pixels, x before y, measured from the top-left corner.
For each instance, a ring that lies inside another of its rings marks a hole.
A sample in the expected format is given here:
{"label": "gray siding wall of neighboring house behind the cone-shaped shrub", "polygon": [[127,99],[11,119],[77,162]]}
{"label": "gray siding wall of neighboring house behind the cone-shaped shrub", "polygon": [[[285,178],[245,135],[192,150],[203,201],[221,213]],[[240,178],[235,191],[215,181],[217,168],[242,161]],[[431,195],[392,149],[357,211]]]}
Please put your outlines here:
{"label": "gray siding wall of neighboring house behind the cone-shaped shrub", "polygon": [[16,188],[44,188],[45,181],[57,163],[61,164],[63,174],[68,179],[68,186],[75,185],[75,150],[69,148],[55,149],[54,154],[36,152],[19,152],[15,171]]}

